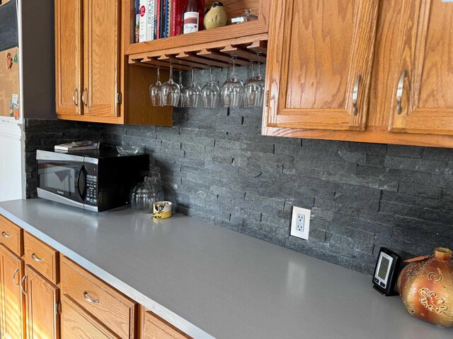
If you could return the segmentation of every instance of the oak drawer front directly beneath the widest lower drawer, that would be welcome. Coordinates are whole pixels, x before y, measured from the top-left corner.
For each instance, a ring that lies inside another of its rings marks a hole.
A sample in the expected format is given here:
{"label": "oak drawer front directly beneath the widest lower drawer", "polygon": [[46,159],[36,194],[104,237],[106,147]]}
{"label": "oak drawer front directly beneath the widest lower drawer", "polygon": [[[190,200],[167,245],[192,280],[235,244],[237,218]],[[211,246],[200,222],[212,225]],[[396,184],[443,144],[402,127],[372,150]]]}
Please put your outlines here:
{"label": "oak drawer front directly beneath the widest lower drawer", "polygon": [[62,296],[62,338],[64,339],[117,339],[96,318],[88,314],[67,295]]}

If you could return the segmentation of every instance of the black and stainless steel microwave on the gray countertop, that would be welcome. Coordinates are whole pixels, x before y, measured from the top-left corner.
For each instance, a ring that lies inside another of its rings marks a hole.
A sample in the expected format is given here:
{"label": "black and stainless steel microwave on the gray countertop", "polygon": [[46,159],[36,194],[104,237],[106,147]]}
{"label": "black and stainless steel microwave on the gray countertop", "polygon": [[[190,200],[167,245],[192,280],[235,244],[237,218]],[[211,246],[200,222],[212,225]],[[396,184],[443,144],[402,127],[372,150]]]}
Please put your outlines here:
{"label": "black and stainless steel microwave on the gray countertop", "polygon": [[36,151],[38,197],[94,212],[129,203],[130,190],[149,173],[149,155],[114,149],[74,153]]}

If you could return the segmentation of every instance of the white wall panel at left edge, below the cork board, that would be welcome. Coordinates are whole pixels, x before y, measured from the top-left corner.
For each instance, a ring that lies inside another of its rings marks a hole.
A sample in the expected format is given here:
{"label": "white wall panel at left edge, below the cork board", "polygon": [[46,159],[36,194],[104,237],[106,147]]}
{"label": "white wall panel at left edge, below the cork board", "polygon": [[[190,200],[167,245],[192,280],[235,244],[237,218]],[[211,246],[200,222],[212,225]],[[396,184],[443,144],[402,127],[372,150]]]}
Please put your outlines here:
{"label": "white wall panel at left edge, below the cork board", "polygon": [[23,196],[21,125],[0,121],[0,201]]}

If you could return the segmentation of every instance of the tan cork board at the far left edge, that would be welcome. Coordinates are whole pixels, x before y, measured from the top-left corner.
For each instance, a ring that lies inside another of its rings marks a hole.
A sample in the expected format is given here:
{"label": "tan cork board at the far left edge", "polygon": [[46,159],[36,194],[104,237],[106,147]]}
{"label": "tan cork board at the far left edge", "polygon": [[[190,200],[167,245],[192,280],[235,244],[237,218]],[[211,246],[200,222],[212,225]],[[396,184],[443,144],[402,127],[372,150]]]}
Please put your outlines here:
{"label": "tan cork board at the far left edge", "polygon": [[6,56],[14,58],[18,48],[14,47],[0,52],[0,116],[9,117],[9,102],[13,94],[19,95],[19,65],[13,63],[11,69],[6,66]]}

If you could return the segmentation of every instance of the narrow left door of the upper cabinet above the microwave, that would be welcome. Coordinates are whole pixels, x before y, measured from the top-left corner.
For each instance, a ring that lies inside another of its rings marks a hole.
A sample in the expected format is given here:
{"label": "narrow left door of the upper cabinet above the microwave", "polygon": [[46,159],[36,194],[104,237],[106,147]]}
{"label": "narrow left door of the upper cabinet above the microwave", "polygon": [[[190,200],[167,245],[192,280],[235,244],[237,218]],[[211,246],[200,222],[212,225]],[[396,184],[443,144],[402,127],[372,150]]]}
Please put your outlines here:
{"label": "narrow left door of the upper cabinet above the microwave", "polygon": [[82,0],[55,0],[57,114],[82,114]]}

